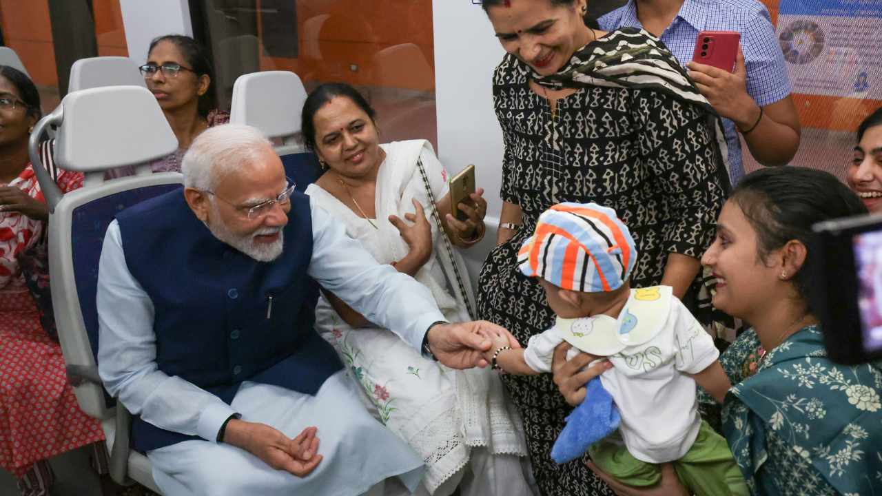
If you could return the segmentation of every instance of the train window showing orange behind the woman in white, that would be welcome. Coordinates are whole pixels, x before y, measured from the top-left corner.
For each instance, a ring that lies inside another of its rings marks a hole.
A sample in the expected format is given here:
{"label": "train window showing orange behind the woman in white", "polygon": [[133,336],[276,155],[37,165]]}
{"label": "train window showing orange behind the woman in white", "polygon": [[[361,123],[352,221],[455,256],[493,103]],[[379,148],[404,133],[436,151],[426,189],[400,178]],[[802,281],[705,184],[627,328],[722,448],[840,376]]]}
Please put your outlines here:
{"label": "train window showing orange behind the woman in white", "polygon": [[222,109],[240,75],[293,71],[307,92],[355,86],[385,141],[437,147],[430,0],[191,0],[191,18],[211,47]]}

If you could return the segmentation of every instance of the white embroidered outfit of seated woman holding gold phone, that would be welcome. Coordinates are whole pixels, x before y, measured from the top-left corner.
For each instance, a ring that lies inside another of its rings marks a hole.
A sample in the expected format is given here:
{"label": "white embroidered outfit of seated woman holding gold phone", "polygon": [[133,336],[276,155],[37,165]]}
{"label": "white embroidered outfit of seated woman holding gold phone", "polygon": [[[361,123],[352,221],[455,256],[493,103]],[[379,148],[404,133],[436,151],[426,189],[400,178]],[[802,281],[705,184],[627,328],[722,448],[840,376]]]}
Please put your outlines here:
{"label": "white embroidered outfit of seated woman holding gold phone", "polygon": [[[404,214],[415,213],[412,198],[431,214],[417,158],[422,159],[436,200],[447,194],[447,175],[427,141],[382,147],[387,155],[377,173],[377,219],[372,220],[377,229],[318,185],[310,184],[306,192],[319,207],[344,222],[348,235],[361,241],[378,262],[388,264],[408,252],[388,216],[404,219]],[[470,320],[465,304],[446,289],[452,274],[445,269],[457,264],[460,274],[467,277],[464,264],[461,259],[445,259],[444,250],[438,250],[443,234],[435,222],[430,220],[430,225],[435,256],[415,279],[431,290],[447,319]],[[428,468],[423,481],[430,493],[467,464],[472,447],[487,447],[492,454],[527,455],[519,414],[505,397],[497,372],[490,368],[454,371],[422,358],[388,329],[353,329],[324,297],[316,308],[316,329],[362,384],[375,417],[422,457]]]}

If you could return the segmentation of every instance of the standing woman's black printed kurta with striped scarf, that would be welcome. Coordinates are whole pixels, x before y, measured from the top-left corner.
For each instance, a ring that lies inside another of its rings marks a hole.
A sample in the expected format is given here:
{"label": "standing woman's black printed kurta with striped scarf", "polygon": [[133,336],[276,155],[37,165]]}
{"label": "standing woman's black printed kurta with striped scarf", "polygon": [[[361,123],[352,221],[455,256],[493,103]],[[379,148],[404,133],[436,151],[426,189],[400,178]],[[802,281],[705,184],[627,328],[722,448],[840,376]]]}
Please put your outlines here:
{"label": "standing woman's black printed kurta with striped scarf", "polygon": [[[509,8],[545,1],[510,0]],[[491,21],[493,9],[503,8],[497,3],[484,1]],[[578,11],[584,0],[572,4]],[[497,22],[494,27],[508,49],[506,32],[500,35]],[[522,215],[519,229],[508,231],[513,237],[506,239],[500,229],[500,244],[484,264],[478,313],[509,329],[522,344],[554,321],[542,287],[517,267],[520,245],[544,210],[564,201],[614,208],[631,229],[639,252],[632,287],[643,287],[659,284],[663,277],[671,281],[666,274],[670,253],[698,261],[713,242],[714,222],[725,200],[721,130],[715,129],[712,111],[683,68],[661,41],[645,32],[592,34],[586,46],[551,74],[537,73],[509,49],[494,76],[493,96],[505,139],[501,196],[508,213],[504,208],[503,222],[517,223],[512,210]],[[658,77],[660,67],[669,74]],[[653,79],[649,73],[656,75],[654,80],[647,81]],[[560,88],[575,92],[560,97],[552,109],[545,95]],[[681,294],[698,269],[696,263],[685,283],[681,275]],[[542,492],[612,494],[584,463],[557,465],[551,460],[551,447],[572,410],[551,376],[505,375],[503,381],[524,419]]]}

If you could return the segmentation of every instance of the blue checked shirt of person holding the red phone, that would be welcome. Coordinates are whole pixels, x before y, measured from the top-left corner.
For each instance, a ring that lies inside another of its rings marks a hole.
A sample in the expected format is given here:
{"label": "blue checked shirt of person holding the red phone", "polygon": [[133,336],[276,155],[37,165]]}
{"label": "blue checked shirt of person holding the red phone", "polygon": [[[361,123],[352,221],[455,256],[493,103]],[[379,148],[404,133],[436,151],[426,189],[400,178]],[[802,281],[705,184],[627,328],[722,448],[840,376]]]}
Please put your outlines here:
{"label": "blue checked shirt of person holding the red phone", "polygon": [[[637,19],[635,0],[629,0],[623,7],[597,20],[604,31],[619,27],[643,29]],[[741,34],[747,67],[747,94],[760,107],[790,94],[784,54],[765,5],[757,0],[685,0],[661,38],[680,64],[685,65],[691,62],[695,41],[702,31],[736,31]],[[729,178],[732,184],[737,184],[744,177],[741,139],[735,123],[729,119],[722,122],[729,147]]]}

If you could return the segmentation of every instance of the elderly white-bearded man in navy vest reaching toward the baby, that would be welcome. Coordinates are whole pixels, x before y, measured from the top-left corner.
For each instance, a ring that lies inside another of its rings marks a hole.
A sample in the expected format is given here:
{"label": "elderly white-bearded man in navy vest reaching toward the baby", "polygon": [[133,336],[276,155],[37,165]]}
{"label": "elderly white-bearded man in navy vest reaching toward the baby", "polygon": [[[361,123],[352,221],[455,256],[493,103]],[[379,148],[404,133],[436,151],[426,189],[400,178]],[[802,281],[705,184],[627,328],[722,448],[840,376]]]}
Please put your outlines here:
{"label": "elderly white-bearded man in navy vest reaching toward the baby", "polygon": [[203,132],[182,170],[183,189],[116,215],[98,276],[101,379],[137,416],[133,447],[157,485],[167,496],[413,492],[422,460],[370,416],[313,329],[313,279],[454,368],[485,366],[479,333],[500,327],[448,324],[429,289],[295,192],[255,128]]}

